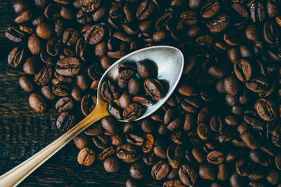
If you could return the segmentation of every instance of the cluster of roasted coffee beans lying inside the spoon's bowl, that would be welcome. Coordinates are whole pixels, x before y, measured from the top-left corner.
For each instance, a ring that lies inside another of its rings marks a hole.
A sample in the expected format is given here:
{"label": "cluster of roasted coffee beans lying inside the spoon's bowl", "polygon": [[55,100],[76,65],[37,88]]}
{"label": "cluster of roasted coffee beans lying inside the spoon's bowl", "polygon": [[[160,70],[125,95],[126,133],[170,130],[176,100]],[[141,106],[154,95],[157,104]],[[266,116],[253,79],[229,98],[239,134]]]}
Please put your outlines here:
{"label": "cluster of roasted coffee beans lying inside the spoon's bowl", "polygon": [[[164,88],[156,79],[157,66],[151,60],[119,64],[118,72],[117,85],[107,79],[102,83],[100,91],[105,102],[109,102],[107,111],[118,120],[140,118],[145,106],[163,97]],[[119,105],[113,102],[115,99],[118,99]]]}

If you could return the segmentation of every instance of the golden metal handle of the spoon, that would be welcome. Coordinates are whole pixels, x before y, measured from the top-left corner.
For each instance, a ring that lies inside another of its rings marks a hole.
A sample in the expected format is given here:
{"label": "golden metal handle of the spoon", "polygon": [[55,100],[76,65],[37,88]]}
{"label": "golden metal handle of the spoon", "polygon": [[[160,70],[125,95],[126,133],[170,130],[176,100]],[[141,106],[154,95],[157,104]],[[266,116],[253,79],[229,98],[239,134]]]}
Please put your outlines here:
{"label": "golden metal handle of the spoon", "polygon": [[65,132],[58,139],[55,139],[51,144],[48,144],[41,151],[33,155],[31,158],[25,160],[20,165],[14,167],[10,171],[0,176],[0,186],[18,186],[27,176],[29,176],[35,169],[42,165],[52,155],[63,148],[70,140],[76,137],[80,132],[85,130],[91,124],[95,123],[100,118],[107,116],[106,108],[103,104],[98,104],[96,108],[86,118],[81,120],[77,125]]}

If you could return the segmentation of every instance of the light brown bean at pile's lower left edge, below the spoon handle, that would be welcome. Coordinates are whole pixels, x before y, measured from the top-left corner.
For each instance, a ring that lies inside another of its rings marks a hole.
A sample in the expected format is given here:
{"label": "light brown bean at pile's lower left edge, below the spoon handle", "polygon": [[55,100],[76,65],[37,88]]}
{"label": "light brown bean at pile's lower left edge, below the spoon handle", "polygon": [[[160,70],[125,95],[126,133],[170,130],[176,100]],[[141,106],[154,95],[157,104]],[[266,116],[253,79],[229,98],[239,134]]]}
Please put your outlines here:
{"label": "light brown bean at pile's lower left edge, below the spoon handle", "polygon": [[77,156],[77,161],[80,165],[92,165],[93,161],[96,159],[96,154],[93,152],[93,149],[85,147],[81,149]]}

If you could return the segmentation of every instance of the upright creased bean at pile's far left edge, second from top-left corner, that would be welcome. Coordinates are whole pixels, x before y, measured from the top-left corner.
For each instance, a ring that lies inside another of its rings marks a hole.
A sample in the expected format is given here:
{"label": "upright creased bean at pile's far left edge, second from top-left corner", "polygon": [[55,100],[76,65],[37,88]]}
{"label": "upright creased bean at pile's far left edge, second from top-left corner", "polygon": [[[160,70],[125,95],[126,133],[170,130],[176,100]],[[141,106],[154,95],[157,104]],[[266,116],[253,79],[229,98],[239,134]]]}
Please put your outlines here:
{"label": "upright creased bean at pile's far left edge, second from top-left corner", "polygon": [[20,67],[25,58],[25,50],[15,47],[8,54],[8,64],[12,67]]}

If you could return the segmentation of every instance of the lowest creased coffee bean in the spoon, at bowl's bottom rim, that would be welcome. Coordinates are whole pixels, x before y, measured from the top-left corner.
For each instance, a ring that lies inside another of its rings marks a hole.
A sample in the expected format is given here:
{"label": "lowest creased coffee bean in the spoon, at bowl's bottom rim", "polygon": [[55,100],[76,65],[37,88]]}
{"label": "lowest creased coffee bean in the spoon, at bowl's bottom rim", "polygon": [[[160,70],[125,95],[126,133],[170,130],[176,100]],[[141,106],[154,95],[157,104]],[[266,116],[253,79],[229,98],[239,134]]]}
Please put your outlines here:
{"label": "lowest creased coffee bean in the spoon, at bowl's bottom rim", "polygon": [[126,109],[124,109],[123,117],[125,120],[136,120],[143,115],[143,112],[143,106],[137,103],[131,103]]}

